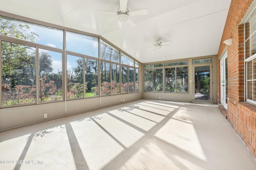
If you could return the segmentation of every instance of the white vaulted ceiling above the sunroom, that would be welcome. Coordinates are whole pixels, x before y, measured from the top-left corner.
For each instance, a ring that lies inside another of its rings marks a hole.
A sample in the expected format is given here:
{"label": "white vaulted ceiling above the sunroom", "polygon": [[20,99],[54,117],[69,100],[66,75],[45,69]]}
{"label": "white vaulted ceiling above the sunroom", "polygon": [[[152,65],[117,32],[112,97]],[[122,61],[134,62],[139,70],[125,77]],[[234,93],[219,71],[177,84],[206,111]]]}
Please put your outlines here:
{"label": "white vaulted ceiling above the sunroom", "polygon": [[[231,0],[128,0],[137,24],[108,26],[119,0],[1,0],[0,10],[88,33],[101,35],[142,63],[216,55]],[[154,42],[170,41],[154,50]]]}

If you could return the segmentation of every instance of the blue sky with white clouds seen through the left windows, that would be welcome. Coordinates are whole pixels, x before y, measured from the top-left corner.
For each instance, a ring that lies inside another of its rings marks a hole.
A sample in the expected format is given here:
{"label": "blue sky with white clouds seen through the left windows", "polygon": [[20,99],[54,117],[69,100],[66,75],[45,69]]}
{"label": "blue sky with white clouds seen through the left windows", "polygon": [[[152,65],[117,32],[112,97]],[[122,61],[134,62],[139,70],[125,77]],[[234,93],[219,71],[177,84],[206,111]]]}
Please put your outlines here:
{"label": "blue sky with white clouds seen through the left windows", "polygon": [[[1,20],[6,20],[0,18]],[[30,29],[26,30],[26,33],[36,33],[39,37],[35,37],[34,42],[58,49],[63,49],[63,30],[58,30],[46,26],[40,26],[30,23],[25,23],[17,20],[10,20],[13,25],[18,27],[19,24],[28,24]],[[88,35],[82,35],[78,33],[66,32],[66,50],[80,53],[83,55],[88,55],[98,58],[98,38]],[[40,49],[40,51],[47,52],[52,57],[52,68],[54,73],[62,71],[62,55],[61,53],[49,51],[45,49]],[[67,69],[72,70],[76,67],[76,60],[78,58],[69,57],[67,61]],[[122,54],[122,63],[133,65],[133,62],[130,61],[130,57]],[[131,62],[131,63],[130,63]]]}

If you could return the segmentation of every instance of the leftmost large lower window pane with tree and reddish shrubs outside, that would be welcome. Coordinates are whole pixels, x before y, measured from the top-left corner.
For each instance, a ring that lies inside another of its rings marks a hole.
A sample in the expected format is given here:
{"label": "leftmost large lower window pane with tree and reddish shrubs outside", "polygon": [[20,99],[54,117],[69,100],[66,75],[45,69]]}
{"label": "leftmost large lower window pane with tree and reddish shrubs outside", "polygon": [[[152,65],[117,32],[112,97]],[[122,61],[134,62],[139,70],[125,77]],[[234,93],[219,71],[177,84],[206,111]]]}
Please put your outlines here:
{"label": "leftmost large lower window pane with tree and reddish shrubs outside", "polygon": [[35,51],[2,41],[2,106],[36,102]]}

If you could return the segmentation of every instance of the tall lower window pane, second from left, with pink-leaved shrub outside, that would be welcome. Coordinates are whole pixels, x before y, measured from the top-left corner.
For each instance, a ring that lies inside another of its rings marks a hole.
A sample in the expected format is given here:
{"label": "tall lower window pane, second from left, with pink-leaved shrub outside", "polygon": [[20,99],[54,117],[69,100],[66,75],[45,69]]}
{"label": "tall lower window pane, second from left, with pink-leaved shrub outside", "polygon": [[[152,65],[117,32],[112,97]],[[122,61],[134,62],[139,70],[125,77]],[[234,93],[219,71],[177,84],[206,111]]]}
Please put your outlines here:
{"label": "tall lower window pane, second from left, with pink-leaved shrub outside", "polygon": [[62,100],[62,53],[39,49],[39,102]]}

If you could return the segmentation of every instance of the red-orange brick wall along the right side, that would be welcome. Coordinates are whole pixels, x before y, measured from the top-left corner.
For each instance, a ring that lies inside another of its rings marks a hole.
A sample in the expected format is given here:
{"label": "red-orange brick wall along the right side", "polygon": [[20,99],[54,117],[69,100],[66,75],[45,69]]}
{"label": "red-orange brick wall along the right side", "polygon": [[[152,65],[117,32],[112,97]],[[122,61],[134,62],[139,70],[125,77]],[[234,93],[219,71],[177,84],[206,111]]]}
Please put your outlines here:
{"label": "red-orange brick wall along the right side", "polygon": [[[244,102],[244,26],[238,25],[253,0],[232,0],[218,59],[227,47],[228,52],[228,121],[256,157],[256,106]],[[233,39],[232,45],[223,43]],[[220,61],[218,62],[218,103],[220,103]]]}

